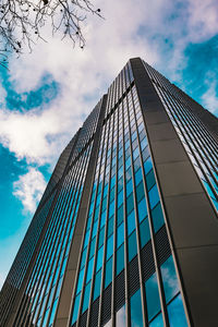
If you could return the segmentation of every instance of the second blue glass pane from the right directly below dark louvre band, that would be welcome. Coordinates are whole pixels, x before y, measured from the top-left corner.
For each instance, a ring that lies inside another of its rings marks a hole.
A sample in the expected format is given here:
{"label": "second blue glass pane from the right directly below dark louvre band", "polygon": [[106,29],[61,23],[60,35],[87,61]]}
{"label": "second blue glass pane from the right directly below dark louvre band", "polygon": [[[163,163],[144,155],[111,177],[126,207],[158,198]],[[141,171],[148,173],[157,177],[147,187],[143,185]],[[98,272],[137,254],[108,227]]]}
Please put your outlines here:
{"label": "second blue glass pane from the right directly below dark louvre band", "polygon": [[150,320],[160,311],[156,272],[153,274],[153,276],[145,282],[145,292],[147,299],[148,320]]}

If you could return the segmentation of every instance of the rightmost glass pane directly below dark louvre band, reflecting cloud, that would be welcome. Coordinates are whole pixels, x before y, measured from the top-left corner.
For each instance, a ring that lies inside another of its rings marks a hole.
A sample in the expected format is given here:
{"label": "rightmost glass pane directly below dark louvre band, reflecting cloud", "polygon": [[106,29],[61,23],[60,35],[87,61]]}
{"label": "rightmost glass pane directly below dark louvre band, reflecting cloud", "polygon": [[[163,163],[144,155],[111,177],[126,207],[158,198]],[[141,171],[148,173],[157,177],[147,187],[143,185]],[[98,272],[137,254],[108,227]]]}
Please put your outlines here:
{"label": "rightmost glass pane directly below dark louvre band, reflecting cloud", "polygon": [[170,256],[161,265],[160,269],[162,275],[166,302],[168,303],[179,292],[178,278],[172,256]]}

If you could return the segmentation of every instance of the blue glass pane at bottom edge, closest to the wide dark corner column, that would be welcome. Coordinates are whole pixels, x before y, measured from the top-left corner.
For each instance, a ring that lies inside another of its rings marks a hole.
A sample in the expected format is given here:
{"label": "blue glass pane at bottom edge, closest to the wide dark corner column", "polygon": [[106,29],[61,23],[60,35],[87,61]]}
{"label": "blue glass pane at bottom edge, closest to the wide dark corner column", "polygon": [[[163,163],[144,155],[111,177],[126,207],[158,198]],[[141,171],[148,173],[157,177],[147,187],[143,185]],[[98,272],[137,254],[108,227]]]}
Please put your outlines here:
{"label": "blue glass pane at bottom edge, closest to the wide dark corner column", "polygon": [[181,294],[168,305],[170,327],[187,327]]}

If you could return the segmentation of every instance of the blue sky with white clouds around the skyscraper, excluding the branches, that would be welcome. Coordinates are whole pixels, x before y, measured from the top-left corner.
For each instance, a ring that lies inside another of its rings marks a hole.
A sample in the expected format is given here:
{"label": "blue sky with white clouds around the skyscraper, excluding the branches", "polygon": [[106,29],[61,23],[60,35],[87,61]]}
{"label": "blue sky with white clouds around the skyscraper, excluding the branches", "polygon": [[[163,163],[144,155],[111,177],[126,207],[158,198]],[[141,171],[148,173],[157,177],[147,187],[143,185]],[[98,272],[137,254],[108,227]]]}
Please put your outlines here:
{"label": "blue sky with white clouds around the skyscraper, excluding the branches", "polygon": [[73,49],[49,43],[0,70],[0,287],[60,152],[129,58],[142,57],[218,116],[217,0],[95,1],[106,20]]}

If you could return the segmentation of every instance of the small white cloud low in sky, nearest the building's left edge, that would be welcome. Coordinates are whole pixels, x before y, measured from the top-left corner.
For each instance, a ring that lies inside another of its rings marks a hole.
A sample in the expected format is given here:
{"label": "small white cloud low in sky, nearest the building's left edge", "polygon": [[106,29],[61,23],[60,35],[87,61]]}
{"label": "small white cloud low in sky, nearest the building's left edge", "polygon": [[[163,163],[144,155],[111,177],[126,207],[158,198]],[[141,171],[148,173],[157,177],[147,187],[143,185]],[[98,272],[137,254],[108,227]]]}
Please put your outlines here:
{"label": "small white cloud low in sky, nearest the building's left edge", "polygon": [[31,167],[26,174],[20,175],[13,183],[13,194],[21,199],[26,211],[34,213],[45,187],[46,181],[41,172]]}

